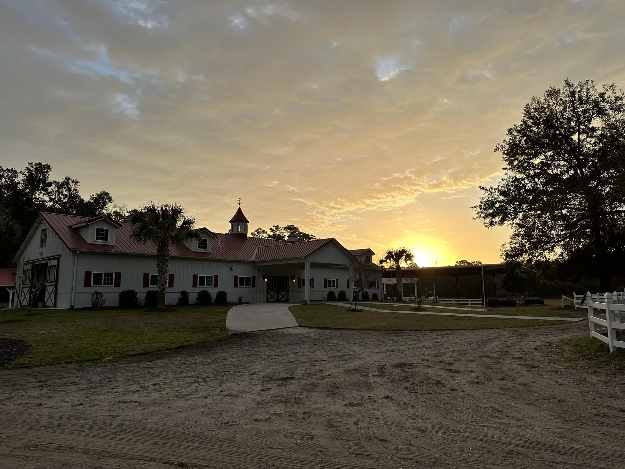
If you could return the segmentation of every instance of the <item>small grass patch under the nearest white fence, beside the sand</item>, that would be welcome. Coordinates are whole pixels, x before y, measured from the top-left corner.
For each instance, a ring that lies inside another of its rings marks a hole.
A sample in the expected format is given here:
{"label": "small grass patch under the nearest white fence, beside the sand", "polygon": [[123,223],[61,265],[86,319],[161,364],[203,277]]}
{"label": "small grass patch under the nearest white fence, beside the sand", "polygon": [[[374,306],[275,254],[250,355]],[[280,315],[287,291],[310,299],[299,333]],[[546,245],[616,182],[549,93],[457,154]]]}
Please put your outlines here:
{"label": "small grass patch under the nearest white fence, beside the sand", "polygon": [[595,365],[625,371],[625,349],[610,353],[607,343],[587,334],[561,340],[550,348],[549,353],[566,360],[589,360]]}

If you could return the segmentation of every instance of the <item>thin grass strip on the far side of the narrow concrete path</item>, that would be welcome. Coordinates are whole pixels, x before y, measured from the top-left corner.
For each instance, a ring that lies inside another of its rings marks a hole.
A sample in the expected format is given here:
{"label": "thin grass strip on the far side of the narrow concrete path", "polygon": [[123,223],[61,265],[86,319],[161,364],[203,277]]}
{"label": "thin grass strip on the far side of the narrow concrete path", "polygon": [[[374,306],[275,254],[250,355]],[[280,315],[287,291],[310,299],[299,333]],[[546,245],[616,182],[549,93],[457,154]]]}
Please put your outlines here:
{"label": "thin grass strip on the far side of the narrow concrete path", "polygon": [[[349,303],[345,303],[349,305]],[[532,306],[498,306],[497,308],[473,308],[471,310],[477,311],[464,311],[464,310],[442,310],[441,308],[427,308],[427,306],[434,305],[435,303],[423,303],[421,308],[425,311],[434,311],[436,313],[461,313],[461,314],[476,314],[476,315],[499,315],[499,316],[548,316],[550,318],[585,318],[586,310],[574,310],[573,308],[554,308],[551,305],[532,305]],[[414,303],[396,303],[387,301],[374,301],[372,303],[368,301],[359,301],[358,305],[368,306],[369,308],[379,308],[381,310],[393,310],[393,311],[410,311],[414,308]],[[449,306],[450,308],[467,308],[469,306],[463,305],[444,305],[442,303],[436,303],[439,306]],[[487,310],[487,311],[479,311]]]}

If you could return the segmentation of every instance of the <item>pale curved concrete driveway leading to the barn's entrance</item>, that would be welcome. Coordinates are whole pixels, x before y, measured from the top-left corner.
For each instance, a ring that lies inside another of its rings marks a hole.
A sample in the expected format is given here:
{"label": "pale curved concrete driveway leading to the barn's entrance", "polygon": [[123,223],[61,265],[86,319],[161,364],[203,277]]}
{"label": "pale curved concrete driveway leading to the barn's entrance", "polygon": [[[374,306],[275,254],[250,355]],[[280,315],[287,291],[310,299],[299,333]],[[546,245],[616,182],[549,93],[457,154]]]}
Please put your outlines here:
{"label": "pale curved concrete driveway leading to the barn's entrance", "polygon": [[289,306],[299,303],[250,303],[230,308],[226,316],[229,333],[297,327]]}

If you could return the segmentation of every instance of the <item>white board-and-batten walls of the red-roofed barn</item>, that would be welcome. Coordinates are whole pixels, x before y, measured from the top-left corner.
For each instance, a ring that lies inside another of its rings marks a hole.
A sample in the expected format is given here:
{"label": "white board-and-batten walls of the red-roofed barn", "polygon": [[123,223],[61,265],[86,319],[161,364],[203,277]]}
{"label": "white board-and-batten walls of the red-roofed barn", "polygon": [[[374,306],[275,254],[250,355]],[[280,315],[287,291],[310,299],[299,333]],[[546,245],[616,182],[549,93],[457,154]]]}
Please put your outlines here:
{"label": "white board-and-batten walls of the red-roofed barn", "polygon": [[[96,228],[109,228],[109,243],[114,243],[115,226],[106,220],[96,221],[83,228],[79,228],[82,235],[88,240],[94,240]],[[46,246],[40,247],[41,229],[47,229]],[[196,246],[194,246],[196,247]],[[26,263],[47,262],[56,259],[57,263],[57,285],[56,285],[56,308],[85,308],[91,306],[91,293],[101,291],[106,299],[107,306],[117,306],[119,293],[122,290],[136,290],[139,299],[143,301],[146,291],[156,290],[156,286],[143,286],[143,276],[148,273],[156,274],[156,258],[149,255],[126,255],[109,252],[81,251],[76,254],[68,248],[56,236],[54,231],[47,226],[43,218],[39,218],[39,223],[34,227],[34,233],[27,241],[26,246],[20,256],[21,261]],[[74,273],[74,259],[76,259],[76,272]],[[349,256],[334,243],[324,246],[321,250],[309,256],[311,263],[325,263],[334,265],[348,265]],[[302,262],[303,264],[303,262]],[[119,286],[85,286],[85,272],[93,273],[119,273]],[[173,274],[173,286],[166,290],[166,303],[176,304],[181,290],[189,291],[189,299],[193,303],[197,292],[208,290],[213,299],[217,291],[223,290],[227,293],[227,300],[242,301],[250,303],[263,303],[266,301],[266,284],[262,279],[263,275],[276,275],[289,277],[289,301],[304,301],[304,286],[299,286],[299,279],[304,278],[304,270],[299,266],[256,266],[249,261],[224,261],[207,260],[206,258],[171,258],[169,260],[169,273]],[[212,287],[194,287],[194,275],[217,276],[218,285]],[[234,286],[235,276],[255,276],[255,286]],[[350,280],[350,288],[347,288],[349,269],[342,266],[311,266],[311,278],[314,278],[314,287],[310,289],[310,299],[312,301],[324,301],[327,299],[327,292],[334,290],[338,293],[341,290],[347,292],[349,298],[353,290],[353,283]],[[380,275],[381,276],[381,275]],[[292,281],[292,278],[295,281]],[[336,279],[336,288],[324,287],[324,279]],[[75,279],[75,283],[74,283]],[[380,278],[380,288],[367,288],[369,295],[377,293],[382,298],[382,281]],[[74,301],[73,292],[74,291]]]}

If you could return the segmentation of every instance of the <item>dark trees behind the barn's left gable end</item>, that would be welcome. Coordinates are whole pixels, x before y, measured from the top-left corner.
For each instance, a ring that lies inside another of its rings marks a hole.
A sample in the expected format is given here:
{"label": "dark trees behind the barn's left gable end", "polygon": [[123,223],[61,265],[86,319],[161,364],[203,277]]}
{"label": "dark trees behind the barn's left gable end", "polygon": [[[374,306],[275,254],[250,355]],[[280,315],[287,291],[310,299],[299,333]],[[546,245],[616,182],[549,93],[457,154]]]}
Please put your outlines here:
{"label": "dark trees behind the barn's left gable end", "polygon": [[51,179],[51,171],[46,163],[28,163],[19,171],[0,166],[0,266],[11,265],[40,211],[97,216],[113,204],[108,191],[84,199],[78,179]]}

